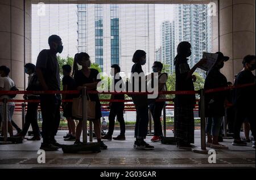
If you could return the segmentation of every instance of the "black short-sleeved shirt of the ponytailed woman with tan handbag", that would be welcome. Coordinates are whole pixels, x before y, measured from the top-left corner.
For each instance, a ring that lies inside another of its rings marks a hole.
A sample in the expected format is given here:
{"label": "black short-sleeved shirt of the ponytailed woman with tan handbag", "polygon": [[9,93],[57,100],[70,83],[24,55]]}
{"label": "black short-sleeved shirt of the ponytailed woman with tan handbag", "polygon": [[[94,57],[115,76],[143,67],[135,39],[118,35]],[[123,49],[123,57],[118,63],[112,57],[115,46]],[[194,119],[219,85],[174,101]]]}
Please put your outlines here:
{"label": "black short-sleeved shirt of the ponytailed woman with tan handbag", "polygon": [[[82,73],[82,70],[77,71],[74,76],[77,87],[82,86],[83,84],[100,82],[101,79],[97,79],[98,73],[99,73],[98,70],[91,68],[90,75],[87,78],[84,75],[84,73]],[[95,88],[93,90],[96,90],[96,89],[97,88]],[[100,101],[97,94],[89,94],[89,97],[90,97],[90,100],[92,100],[92,101]]]}

